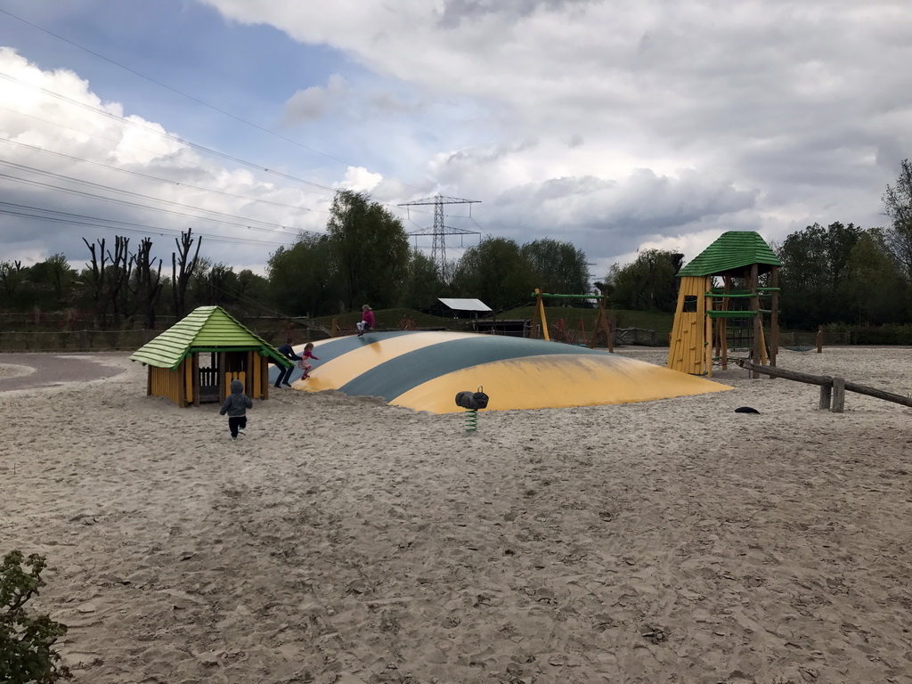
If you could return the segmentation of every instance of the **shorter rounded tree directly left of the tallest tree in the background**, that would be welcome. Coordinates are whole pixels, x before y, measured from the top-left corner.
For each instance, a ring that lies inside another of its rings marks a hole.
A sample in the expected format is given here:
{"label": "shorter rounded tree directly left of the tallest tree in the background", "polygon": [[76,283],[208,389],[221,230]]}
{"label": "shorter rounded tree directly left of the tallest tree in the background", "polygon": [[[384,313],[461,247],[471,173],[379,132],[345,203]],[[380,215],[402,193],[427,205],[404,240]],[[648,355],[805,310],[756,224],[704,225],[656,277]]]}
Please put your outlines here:
{"label": "shorter rounded tree directly left of the tallest tree in the background", "polygon": [[328,235],[302,234],[279,247],[266,268],[275,308],[289,316],[336,314],[341,302],[334,244]]}

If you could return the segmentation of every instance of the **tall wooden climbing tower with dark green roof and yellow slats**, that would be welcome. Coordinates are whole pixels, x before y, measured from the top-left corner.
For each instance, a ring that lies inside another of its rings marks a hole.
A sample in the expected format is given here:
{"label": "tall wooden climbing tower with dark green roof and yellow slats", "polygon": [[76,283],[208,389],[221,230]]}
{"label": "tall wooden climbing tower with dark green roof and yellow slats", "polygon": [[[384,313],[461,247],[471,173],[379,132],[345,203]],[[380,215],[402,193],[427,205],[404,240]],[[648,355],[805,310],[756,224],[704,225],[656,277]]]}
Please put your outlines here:
{"label": "tall wooden climbing tower with dark green roof and yellow slats", "polygon": [[[729,231],[684,266],[678,273],[668,368],[711,376],[714,356],[720,358],[721,368],[728,368],[728,322],[732,319],[749,321],[754,363],[775,366],[781,265],[758,233]],[[767,286],[761,286],[760,278],[766,274]],[[714,276],[721,278],[721,287],[713,286]],[[735,278],[741,279],[741,289],[732,289]],[[763,332],[764,315],[769,315],[769,340]]]}

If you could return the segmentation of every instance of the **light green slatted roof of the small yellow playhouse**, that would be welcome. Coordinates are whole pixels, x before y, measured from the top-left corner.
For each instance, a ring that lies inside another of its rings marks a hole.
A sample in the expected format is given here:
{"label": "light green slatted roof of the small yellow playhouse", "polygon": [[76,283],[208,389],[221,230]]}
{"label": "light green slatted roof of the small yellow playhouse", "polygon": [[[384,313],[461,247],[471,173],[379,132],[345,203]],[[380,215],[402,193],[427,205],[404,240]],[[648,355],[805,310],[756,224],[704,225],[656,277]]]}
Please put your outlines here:
{"label": "light green slatted roof of the small yellow playhouse", "polygon": [[238,323],[221,306],[201,306],[137,349],[131,361],[157,368],[177,368],[198,351],[255,351],[274,363],[291,366],[275,347]]}

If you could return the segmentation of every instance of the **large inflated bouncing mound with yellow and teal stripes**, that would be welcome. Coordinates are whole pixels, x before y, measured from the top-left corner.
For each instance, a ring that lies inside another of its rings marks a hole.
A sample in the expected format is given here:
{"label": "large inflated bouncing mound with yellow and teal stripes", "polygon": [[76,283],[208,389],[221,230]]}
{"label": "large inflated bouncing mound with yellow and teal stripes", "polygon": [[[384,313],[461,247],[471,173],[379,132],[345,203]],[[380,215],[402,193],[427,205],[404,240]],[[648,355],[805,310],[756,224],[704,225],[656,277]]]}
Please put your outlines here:
{"label": "large inflated bouncing mound with yellow and teal stripes", "polygon": [[456,393],[479,386],[492,410],[626,404],[731,389],[633,358],[523,337],[368,333],[317,342],[314,353],[320,360],[295,389],[337,389],[433,413],[462,410]]}

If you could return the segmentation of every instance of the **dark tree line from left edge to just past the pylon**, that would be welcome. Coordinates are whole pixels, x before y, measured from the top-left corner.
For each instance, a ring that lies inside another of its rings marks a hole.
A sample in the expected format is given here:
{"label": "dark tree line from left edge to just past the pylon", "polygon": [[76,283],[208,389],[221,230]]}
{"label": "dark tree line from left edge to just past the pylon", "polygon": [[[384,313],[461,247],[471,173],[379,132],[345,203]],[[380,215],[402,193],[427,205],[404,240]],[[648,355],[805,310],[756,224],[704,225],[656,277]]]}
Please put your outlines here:
{"label": "dark tree line from left edge to just past the pylon", "polygon": [[[192,229],[175,240],[171,263],[152,256],[152,241],[83,239],[88,260],[73,268],[63,254],[24,266],[0,263],[0,309],[66,311],[97,329],[181,318],[196,306],[227,306],[241,316],[329,316],[394,306],[428,310],[439,297],[482,299],[495,310],[528,303],[535,287],[586,292],[586,254],[551,239],[517,244],[489,238],[451,264],[434,264],[398,218],[366,193],[339,191],[326,233],[302,233],[271,254],[265,275],[212,263]],[[201,255],[202,252],[202,255]]]}

